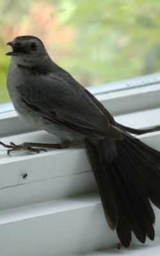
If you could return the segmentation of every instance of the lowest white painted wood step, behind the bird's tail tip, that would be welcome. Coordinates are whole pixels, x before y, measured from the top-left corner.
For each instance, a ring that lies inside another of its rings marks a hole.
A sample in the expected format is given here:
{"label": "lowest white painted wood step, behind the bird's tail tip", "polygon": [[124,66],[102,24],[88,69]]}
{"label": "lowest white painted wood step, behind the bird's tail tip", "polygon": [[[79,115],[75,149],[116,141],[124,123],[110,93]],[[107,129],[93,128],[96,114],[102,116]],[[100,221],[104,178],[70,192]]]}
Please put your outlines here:
{"label": "lowest white painted wood step, behind the bird's tail tip", "polygon": [[[158,237],[160,214],[156,207],[154,211]],[[95,194],[3,211],[0,213],[0,237],[3,256],[75,256],[102,248],[108,248],[104,254],[108,255],[109,248],[118,245],[116,233],[106,224],[99,196]],[[131,248],[136,255],[137,250],[145,251],[148,244],[153,248],[157,241],[142,245],[133,236]],[[129,250],[123,248],[122,252]]]}

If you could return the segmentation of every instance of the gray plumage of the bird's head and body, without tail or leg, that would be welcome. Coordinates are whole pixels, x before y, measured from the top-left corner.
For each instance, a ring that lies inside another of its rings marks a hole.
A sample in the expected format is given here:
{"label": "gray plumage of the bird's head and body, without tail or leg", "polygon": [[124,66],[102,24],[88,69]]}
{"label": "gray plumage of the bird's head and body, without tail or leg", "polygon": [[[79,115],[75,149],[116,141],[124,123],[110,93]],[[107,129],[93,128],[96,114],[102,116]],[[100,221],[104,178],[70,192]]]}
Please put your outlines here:
{"label": "gray plumage of the bird's head and body, without tail or leg", "polygon": [[[25,38],[15,38],[13,44],[20,44],[30,53],[17,52],[12,56],[7,77],[8,92],[19,115],[62,140],[84,140],[88,132],[90,136],[93,133],[93,138],[107,134],[118,137],[90,94],[51,60],[42,42]],[[31,49],[32,44],[36,44],[36,51]],[[38,111],[31,111],[29,104]],[[64,127],[65,122],[83,134]]]}

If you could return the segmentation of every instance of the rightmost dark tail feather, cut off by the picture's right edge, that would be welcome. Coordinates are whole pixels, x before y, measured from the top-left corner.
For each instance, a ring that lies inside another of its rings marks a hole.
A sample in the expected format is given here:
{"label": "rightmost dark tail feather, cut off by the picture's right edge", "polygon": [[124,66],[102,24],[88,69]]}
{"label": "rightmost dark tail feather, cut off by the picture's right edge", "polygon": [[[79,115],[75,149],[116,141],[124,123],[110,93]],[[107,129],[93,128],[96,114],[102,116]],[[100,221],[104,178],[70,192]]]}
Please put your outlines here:
{"label": "rightmost dark tail feather, cut off by the picture's right edge", "polygon": [[[135,141],[138,143],[138,145],[141,145],[142,147],[144,146],[147,149],[148,154],[143,152],[142,149],[140,150],[140,148],[134,144]],[[132,140],[127,138],[127,141],[124,141],[124,148],[127,157],[129,157],[129,152],[132,153],[132,158],[130,159],[131,164],[134,166],[136,175],[141,180],[141,186],[143,186],[143,189],[145,189],[145,193],[147,194],[148,198],[150,198],[153,204],[160,208],[160,156],[159,159],[157,159],[159,152],[154,150],[156,151],[156,154],[153,156],[152,148],[148,147],[147,145],[143,145],[141,141],[138,141],[135,138],[132,138]],[[150,149],[151,157],[149,157]],[[156,159],[154,159],[154,157],[156,157]]]}

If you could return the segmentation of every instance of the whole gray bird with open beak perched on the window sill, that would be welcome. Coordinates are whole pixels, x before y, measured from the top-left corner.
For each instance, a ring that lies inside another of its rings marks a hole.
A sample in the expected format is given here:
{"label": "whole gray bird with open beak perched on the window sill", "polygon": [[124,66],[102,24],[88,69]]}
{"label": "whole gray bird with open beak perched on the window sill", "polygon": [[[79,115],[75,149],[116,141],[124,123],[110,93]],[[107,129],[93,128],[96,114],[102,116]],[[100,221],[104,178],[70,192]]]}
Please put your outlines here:
{"label": "whole gray bird with open beak perched on the window sill", "polygon": [[35,36],[8,42],[13,49],[7,87],[13,106],[31,124],[61,139],[58,144],[1,145],[40,152],[41,147],[84,145],[92,166],[104,214],[128,247],[132,232],[141,243],[154,240],[155,215],[160,207],[160,152],[131,136],[159,131],[139,130],[115,122],[95,97],[54,63]]}

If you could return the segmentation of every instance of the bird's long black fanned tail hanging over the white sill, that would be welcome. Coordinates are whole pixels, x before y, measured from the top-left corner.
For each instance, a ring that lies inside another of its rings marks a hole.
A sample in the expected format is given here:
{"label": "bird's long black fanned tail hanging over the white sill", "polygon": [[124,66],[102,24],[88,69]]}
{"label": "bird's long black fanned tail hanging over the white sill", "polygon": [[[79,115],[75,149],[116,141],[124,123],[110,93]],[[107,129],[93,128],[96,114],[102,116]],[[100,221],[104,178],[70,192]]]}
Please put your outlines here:
{"label": "bird's long black fanned tail hanging over the white sill", "polygon": [[154,211],[160,208],[160,152],[129,134],[124,140],[86,140],[86,150],[111,229],[128,247],[131,234],[154,240]]}

